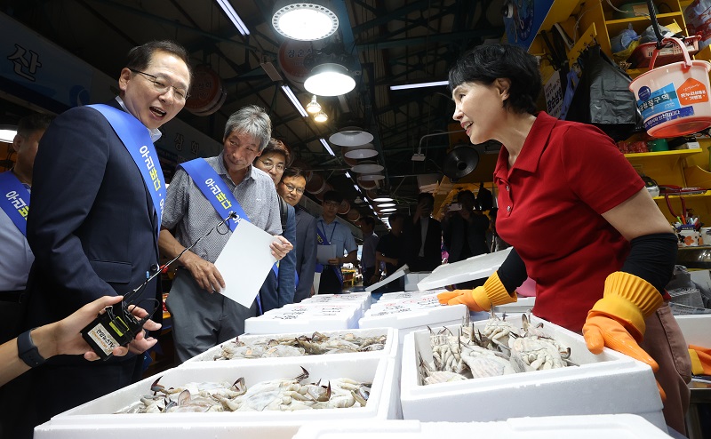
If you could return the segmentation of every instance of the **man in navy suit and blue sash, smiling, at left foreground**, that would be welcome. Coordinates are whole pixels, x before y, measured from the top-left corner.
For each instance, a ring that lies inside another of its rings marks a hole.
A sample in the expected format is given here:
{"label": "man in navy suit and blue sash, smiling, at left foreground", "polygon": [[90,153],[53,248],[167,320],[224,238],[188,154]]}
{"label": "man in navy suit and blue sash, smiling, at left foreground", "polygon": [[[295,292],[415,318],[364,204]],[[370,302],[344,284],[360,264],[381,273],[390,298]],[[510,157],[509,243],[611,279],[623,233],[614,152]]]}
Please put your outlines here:
{"label": "man in navy suit and blue sash, smiling, at left foreground", "polygon": [[[60,320],[101,296],[138,288],[152,310],[164,180],[152,141],[185,105],[188,53],[170,41],[134,47],[118,79],[116,101],[71,108],[40,140],[35,161],[28,243],[28,324]],[[113,119],[112,119],[113,118]],[[121,124],[128,128],[121,128]],[[122,134],[123,133],[123,134]],[[157,329],[146,325],[147,329]],[[156,343],[139,333],[129,346]],[[58,355],[34,370],[38,421],[125,387],[140,377],[142,356],[105,362]],[[51,389],[51,391],[47,391]]]}

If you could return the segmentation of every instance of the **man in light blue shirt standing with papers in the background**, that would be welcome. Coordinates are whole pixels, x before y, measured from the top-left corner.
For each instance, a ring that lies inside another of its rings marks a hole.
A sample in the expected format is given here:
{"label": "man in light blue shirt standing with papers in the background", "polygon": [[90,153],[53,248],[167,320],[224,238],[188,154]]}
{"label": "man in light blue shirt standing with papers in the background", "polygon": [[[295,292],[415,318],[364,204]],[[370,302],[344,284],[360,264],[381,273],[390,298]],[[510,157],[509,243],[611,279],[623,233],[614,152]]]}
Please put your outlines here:
{"label": "man in light blue shirt standing with papers in the background", "polygon": [[[324,265],[321,272],[321,280],[318,285],[319,294],[340,294],[343,290],[343,275],[340,267],[348,262],[356,262],[358,247],[356,240],[351,235],[348,226],[338,220],[337,213],[343,201],[335,190],[330,190],[324,194],[324,208],[321,218],[316,221],[316,240],[322,248],[321,254],[324,259],[318,262]],[[325,250],[325,251],[324,251]],[[347,251],[348,256],[343,256],[343,251]],[[328,259],[325,259],[328,258]]]}

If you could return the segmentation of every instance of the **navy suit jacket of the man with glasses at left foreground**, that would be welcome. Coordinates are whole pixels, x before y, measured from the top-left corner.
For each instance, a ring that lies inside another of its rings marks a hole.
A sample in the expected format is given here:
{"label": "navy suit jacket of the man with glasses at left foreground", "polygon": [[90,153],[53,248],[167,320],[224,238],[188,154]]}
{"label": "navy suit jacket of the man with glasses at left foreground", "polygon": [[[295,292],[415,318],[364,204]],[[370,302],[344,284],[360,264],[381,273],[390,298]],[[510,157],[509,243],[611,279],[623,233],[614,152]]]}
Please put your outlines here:
{"label": "navy suit jacket of the man with glasses at left foreground", "polygon": [[[119,108],[116,101],[108,105]],[[156,221],[139,168],[106,118],[88,107],[57,117],[40,141],[34,168],[28,326],[145,282],[147,271],[157,268]],[[155,299],[156,279],[141,293]]]}

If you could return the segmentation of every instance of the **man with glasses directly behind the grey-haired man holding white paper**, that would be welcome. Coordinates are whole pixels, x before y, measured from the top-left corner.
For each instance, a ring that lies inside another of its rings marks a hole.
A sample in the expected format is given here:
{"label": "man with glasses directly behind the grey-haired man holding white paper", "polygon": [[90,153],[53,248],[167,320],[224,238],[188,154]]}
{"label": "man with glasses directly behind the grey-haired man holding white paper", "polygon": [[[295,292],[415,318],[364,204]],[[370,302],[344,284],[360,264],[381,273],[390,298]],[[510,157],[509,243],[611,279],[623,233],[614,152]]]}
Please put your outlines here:
{"label": "man with glasses directly behind the grey-haired man holding white paper", "polygon": [[[284,168],[289,163],[291,154],[281,140],[269,140],[267,148],[261,156],[254,159],[254,167],[267,172],[274,181],[275,188],[282,180]],[[278,192],[278,191],[277,191]],[[282,221],[282,236],[296,245],[296,217],[294,208],[279,198],[279,215]],[[278,273],[278,274],[277,274]],[[260,288],[261,307],[263,312],[293,303],[296,291],[296,252],[289,251],[284,259],[279,261],[279,267],[269,272]]]}

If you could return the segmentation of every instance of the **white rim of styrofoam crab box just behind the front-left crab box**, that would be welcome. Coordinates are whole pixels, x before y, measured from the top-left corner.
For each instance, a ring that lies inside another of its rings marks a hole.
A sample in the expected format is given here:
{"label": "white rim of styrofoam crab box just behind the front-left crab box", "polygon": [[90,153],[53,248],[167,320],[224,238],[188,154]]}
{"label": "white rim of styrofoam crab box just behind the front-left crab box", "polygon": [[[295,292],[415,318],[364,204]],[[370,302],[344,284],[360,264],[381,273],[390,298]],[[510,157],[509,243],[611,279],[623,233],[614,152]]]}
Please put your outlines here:
{"label": "white rim of styrofoam crab box just behind the front-left crab box", "polygon": [[[346,353],[346,354],[332,354],[332,355],[339,355],[339,359],[357,360],[358,358],[370,357],[370,356],[395,357],[397,355],[399,338],[397,335],[397,330],[394,328],[372,328],[372,329],[354,329],[354,330],[340,330],[340,331],[323,331],[322,333],[328,337],[335,337],[335,336],[345,335],[345,334],[353,334],[356,337],[379,337],[381,335],[385,335],[387,337],[386,342],[385,342],[385,347],[383,347],[381,350],[368,351],[368,352],[354,352],[354,353]],[[287,333],[287,334],[259,334],[259,335],[244,334],[244,335],[239,336],[239,340],[244,341],[244,343],[250,343],[251,341],[256,340],[256,339],[296,339],[302,335],[311,337],[313,334],[314,334],[313,331],[312,332],[293,332],[293,333]],[[232,340],[226,341],[225,343],[232,343]],[[179,367],[185,366],[186,364],[190,364],[190,363],[203,363],[203,364],[207,363],[207,364],[210,364],[211,366],[213,366],[213,365],[224,364],[226,362],[243,361],[243,360],[247,360],[250,362],[254,362],[254,361],[265,361],[265,362],[281,361],[280,357],[248,358],[248,359],[235,358],[234,360],[214,361],[215,356],[220,355],[221,352],[222,352],[222,345],[212,347],[212,348],[206,350],[204,353],[190,358],[187,362],[182,363]],[[329,355],[329,356],[332,356],[332,355]],[[304,355],[304,356],[315,357],[315,356],[319,356],[319,355]]]}

